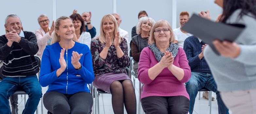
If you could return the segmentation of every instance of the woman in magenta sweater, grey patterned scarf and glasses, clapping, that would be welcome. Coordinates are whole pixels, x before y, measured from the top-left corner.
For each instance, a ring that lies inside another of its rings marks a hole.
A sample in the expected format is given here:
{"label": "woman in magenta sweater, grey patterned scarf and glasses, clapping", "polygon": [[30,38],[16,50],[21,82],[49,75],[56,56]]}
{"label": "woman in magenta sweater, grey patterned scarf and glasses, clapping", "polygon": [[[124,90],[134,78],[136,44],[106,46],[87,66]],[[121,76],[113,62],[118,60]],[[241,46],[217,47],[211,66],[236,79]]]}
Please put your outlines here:
{"label": "woman in magenta sweater, grey patterned scarf and glasses, clapping", "polygon": [[138,79],[144,83],[142,108],[147,114],[187,114],[189,95],[184,83],[191,76],[186,54],[175,40],[168,21],[151,28],[151,45],[141,52]]}

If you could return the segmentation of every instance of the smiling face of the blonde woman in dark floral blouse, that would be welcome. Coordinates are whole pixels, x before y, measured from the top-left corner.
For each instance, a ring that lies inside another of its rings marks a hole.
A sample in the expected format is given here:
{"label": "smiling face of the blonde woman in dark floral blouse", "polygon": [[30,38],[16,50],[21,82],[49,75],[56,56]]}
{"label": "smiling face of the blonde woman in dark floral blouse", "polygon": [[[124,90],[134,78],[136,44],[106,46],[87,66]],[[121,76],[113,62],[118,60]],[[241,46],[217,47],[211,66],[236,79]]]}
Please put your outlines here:
{"label": "smiling face of the blonde woman in dark floral blouse", "polygon": [[109,34],[113,34],[114,30],[115,30],[115,24],[113,21],[111,21],[110,19],[105,19],[102,22],[102,28],[103,28],[103,32],[106,34],[107,32]]}

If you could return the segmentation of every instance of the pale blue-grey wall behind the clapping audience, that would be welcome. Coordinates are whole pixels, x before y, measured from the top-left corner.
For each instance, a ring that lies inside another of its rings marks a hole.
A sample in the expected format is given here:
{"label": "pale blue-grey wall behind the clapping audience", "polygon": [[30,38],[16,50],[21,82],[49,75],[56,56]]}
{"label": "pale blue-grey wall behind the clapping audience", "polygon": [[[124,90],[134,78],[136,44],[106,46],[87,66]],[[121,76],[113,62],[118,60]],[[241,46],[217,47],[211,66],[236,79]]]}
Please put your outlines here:
{"label": "pale blue-grey wall behind the clapping audience", "polygon": [[[54,4],[53,10],[53,1]],[[176,0],[177,15],[172,16],[172,0],[1,0],[0,7],[0,35],[5,34],[5,18],[10,13],[17,14],[22,21],[25,31],[35,32],[40,28],[37,18],[41,14],[46,14],[49,20],[60,16],[70,16],[74,9],[79,14],[85,11],[92,12],[91,23],[99,34],[101,18],[106,14],[113,13],[113,1],[116,1],[116,12],[121,15],[122,23],[120,27],[128,31],[131,39],[131,29],[138,22],[138,13],[145,10],[149,17],[155,21],[165,19],[172,24],[172,18],[177,19],[179,27],[179,13],[181,11],[193,12],[206,11],[210,9],[211,17],[215,20],[222,9],[213,3],[214,0]],[[54,14],[53,14],[53,11]],[[53,16],[54,15],[54,16]],[[50,23],[51,26],[51,23]]]}

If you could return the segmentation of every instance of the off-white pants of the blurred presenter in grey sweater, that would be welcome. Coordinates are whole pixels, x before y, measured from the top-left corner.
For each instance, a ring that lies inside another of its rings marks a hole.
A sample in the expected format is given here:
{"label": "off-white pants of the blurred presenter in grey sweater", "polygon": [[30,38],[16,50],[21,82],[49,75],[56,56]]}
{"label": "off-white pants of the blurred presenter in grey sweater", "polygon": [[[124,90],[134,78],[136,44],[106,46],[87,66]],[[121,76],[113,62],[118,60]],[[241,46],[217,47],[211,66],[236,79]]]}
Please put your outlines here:
{"label": "off-white pants of the blurred presenter in grey sweater", "polygon": [[220,94],[232,114],[256,114],[256,89],[221,92]]}

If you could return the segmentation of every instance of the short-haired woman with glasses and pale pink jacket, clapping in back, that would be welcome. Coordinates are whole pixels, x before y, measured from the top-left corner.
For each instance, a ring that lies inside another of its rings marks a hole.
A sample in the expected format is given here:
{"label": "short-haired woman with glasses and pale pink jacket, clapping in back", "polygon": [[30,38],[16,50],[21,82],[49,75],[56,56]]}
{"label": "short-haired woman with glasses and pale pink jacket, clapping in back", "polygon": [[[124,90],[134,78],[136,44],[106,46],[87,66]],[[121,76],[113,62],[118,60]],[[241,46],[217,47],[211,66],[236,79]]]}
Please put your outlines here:
{"label": "short-haired woman with glasses and pale pink jacket, clapping in back", "polygon": [[45,49],[46,45],[51,45],[51,35],[54,31],[54,21],[52,21],[51,28],[49,27],[49,19],[47,15],[42,14],[38,17],[38,24],[40,25],[40,29],[36,30],[36,38],[39,50],[37,52],[37,56],[42,59],[43,50]]}

